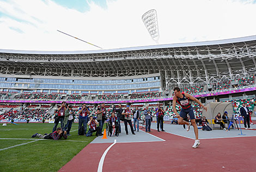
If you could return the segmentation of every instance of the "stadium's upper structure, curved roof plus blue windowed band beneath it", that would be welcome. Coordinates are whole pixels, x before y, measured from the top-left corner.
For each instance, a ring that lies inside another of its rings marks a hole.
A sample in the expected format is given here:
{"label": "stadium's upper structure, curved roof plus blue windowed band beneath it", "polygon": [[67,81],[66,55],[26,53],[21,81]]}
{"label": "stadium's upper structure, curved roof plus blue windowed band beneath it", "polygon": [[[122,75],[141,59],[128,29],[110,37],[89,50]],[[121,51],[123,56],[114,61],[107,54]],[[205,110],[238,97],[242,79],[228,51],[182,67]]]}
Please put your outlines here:
{"label": "stadium's upper structure, curved roof plus blue windowed band beneath it", "polygon": [[174,86],[196,86],[202,88],[197,95],[210,94],[216,83],[231,82],[231,91],[237,89],[237,79],[254,79],[255,57],[256,36],[74,52],[0,49],[0,91],[160,91],[165,97]]}

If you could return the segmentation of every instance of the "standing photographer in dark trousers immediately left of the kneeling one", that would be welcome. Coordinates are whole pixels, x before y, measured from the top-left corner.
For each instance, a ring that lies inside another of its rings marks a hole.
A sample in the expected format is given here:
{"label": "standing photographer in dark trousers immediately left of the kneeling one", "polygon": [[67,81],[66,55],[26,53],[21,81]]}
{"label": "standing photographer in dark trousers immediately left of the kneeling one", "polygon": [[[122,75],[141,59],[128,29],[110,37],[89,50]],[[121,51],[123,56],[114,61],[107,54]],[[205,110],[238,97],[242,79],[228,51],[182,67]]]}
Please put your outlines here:
{"label": "standing photographer in dark trousers immediately left of the kneeling one", "polygon": [[[79,119],[78,119],[78,135],[86,136],[88,116],[90,114],[89,107],[86,104],[83,104],[82,107],[79,108]],[[83,127],[83,133],[80,133]]]}

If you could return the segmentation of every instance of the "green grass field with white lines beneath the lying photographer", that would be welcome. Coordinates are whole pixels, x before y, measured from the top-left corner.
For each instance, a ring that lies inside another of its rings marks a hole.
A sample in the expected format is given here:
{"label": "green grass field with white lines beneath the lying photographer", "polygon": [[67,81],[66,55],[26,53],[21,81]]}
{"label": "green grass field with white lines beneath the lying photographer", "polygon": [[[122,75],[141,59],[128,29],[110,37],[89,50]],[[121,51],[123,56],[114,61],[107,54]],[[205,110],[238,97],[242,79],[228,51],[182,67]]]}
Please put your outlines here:
{"label": "green grass field with white lines beneath the lying photographer", "polygon": [[42,135],[50,133],[53,125],[40,123],[2,126],[0,124],[0,138],[25,138],[0,139],[0,149],[31,142],[0,150],[0,171],[58,171],[96,137],[95,133],[92,137],[78,136],[78,124],[75,123],[70,132],[72,136],[68,136],[66,140],[64,138],[58,141],[31,139],[36,132]]}

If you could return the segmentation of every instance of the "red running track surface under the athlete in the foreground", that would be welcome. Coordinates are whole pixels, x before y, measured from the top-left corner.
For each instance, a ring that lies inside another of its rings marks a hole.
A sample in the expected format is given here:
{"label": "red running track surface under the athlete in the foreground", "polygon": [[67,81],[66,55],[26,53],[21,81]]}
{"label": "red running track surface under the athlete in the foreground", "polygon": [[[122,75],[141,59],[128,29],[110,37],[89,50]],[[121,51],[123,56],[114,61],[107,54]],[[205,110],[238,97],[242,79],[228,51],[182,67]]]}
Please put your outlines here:
{"label": "red running track surface under the athlete in the foreground", "polygon": [[[193,139],[156,130],[151,134],[166,142],[117,143],[103,171],[256,171],[256,137],[202,139],[193,149]],[[88,144],[60,171],[97,171],[111,144]]]}

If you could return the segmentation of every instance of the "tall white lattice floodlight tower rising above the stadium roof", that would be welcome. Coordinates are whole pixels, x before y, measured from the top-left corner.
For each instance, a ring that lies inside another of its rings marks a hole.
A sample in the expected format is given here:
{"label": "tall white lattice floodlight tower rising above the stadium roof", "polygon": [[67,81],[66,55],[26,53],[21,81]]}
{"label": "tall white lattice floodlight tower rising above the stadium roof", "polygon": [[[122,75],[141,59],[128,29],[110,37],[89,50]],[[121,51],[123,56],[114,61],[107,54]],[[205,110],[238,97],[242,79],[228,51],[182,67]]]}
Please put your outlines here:
{"label": "tall white lattice floodlight tower rising above the stadium roof", "polygon": [[142,15],[142,21],[145,24],[145,27],[148,29],[152,39],[156,43],[158,43],[160,35],[159,35],[159,27],[157,22],[156,10],[152,9],[145,12],[145,14]]}

